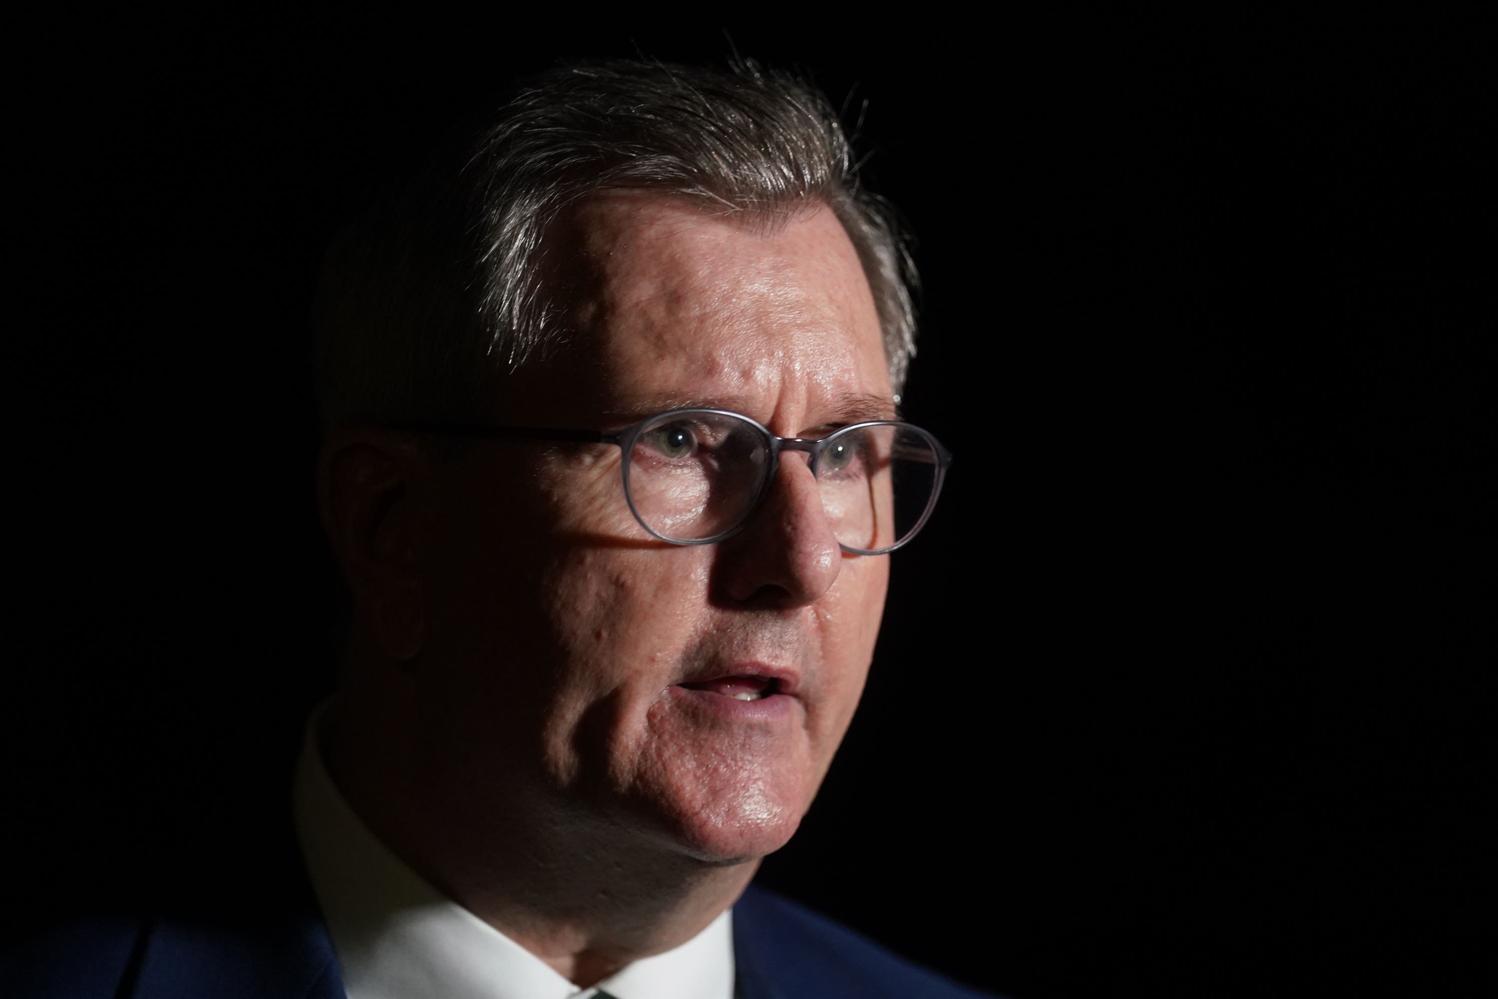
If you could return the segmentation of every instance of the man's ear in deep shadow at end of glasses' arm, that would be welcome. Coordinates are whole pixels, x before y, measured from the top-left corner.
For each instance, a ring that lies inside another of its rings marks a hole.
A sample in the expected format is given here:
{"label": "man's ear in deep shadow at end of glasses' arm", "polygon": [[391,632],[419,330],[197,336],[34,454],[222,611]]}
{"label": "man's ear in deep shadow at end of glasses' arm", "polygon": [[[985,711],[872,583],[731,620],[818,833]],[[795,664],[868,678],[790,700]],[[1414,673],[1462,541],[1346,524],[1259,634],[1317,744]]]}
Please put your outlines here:
{"label": "man's ear in deep shadow at end of glasses' arm", "polygon": [[318,460],[322,529],[354,598],[354,626],[394,662],[421,655],[427,629],[434,481],[409,434],[328,431]]}

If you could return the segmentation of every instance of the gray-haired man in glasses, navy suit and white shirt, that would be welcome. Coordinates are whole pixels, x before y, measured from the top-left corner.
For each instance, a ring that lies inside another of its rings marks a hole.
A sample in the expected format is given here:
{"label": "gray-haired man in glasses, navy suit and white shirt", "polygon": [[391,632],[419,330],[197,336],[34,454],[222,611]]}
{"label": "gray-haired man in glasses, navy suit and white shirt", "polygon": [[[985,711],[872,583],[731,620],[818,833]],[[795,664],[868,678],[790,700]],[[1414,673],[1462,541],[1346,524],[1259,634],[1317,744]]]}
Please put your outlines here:
{"label": "gray-haired man in glasses, navy suit and white shirt", "polygon": [[319,304],[313,905],[100,932],[72,995],[971,995],[749,888],[947,467],[897,418],[911,277],[825,100],[752,64],[547,75],[377,198]]}

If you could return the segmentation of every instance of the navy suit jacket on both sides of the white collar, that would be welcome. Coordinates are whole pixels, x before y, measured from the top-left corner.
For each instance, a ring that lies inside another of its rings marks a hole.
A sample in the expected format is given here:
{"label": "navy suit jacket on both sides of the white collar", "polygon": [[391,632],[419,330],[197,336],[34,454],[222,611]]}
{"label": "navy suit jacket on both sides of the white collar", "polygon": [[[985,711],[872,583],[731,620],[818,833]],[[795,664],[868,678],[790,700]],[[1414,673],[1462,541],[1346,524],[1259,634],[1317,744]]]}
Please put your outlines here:
{"label": "navy suit jacket on both sides of the white collar", "polygon": [[[327,926],[303,885],[294,905],[204,918],[99,918],[7,950],[15,999],[345,999]],[[980,999],[801,906],[750,888],[734,906],[740,999]]]}

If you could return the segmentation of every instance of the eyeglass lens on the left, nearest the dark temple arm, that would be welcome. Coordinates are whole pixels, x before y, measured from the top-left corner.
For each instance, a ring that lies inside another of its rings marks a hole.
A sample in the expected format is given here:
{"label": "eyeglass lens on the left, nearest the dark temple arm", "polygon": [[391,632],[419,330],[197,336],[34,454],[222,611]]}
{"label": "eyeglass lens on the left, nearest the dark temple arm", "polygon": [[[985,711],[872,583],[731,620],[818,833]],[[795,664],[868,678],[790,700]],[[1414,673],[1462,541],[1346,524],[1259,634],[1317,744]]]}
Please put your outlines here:
{"label": "eyeglass lens on the left, nearest the dark temple arm", "polygon": [[703,541],[733,530],[764,485],[768,449],[749,422],[722,413],[667,413],[629,454],[629,496],[650,530]]}

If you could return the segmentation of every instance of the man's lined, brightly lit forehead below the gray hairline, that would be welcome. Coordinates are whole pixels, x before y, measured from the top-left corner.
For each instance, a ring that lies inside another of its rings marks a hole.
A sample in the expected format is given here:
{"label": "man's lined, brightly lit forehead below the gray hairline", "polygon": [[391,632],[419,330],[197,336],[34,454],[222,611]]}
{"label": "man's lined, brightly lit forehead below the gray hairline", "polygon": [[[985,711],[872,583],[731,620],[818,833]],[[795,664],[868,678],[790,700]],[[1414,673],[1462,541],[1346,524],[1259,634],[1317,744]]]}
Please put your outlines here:
{"label": "man's lined, brightly lit forehead below the gray hairline", "polygon": [[598,419],[685,404],[767,424],[840,421],[849,404],[893,415],[876,412],[893,404],[873,297],[825,205],[767,222],[611,192],[560,220],[548,255],[572,347],[553,400]]}

